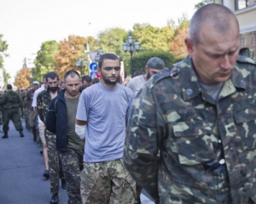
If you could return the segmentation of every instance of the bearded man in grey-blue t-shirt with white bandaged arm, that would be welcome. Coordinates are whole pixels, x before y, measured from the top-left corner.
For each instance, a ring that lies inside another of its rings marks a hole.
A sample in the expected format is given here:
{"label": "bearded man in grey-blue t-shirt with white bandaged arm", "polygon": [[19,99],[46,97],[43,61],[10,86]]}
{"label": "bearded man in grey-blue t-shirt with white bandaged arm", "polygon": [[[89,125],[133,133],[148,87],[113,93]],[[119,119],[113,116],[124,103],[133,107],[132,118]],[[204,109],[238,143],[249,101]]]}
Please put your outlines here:
{"label": "bearded man in grey-blue t-shirt with white bandaged arm", "polygon": [[81,139],[85,137],[82,202],[135,203],[135,182],[122,161],[134,94],[118,83],[117,55],[103,54],[99,71],[102,81],[84,89],[76,116],[76,133]]}

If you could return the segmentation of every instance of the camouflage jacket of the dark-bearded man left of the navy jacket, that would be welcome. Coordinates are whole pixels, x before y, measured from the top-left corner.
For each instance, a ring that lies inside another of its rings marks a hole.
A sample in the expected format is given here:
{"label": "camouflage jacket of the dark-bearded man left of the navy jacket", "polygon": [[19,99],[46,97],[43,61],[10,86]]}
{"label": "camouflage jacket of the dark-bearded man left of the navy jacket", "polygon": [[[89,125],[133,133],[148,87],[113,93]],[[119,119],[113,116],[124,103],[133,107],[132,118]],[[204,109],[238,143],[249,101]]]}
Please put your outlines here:
{"label": "camouflage jacket of the dark-bearded man left of the navy jacket", "polygon": [[[60,93],[61,89],[58,89],[58,94]],[[44,90],[38,94],[37,98],[37,109],[38,109],[38,116],[42,122],[46,122],[46,114],[49,108],[49,104],[51,101],[51,96],[48,90]]]}

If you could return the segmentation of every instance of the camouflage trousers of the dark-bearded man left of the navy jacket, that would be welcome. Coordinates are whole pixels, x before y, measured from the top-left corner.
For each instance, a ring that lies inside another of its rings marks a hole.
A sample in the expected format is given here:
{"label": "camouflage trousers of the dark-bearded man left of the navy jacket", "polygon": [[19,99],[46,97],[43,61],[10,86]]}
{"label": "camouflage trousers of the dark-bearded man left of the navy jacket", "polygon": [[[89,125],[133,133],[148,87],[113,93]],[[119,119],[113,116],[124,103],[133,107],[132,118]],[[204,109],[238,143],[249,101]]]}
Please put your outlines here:
{"label": "camouflage trousers of the dark-bearded man left of the navy jacket", "polygon": [[60,178],[64,178],[59,151],[56,150],[56,135],[45,130],[45,140],[48,149],[49,183],[52,195],[59,193]]}

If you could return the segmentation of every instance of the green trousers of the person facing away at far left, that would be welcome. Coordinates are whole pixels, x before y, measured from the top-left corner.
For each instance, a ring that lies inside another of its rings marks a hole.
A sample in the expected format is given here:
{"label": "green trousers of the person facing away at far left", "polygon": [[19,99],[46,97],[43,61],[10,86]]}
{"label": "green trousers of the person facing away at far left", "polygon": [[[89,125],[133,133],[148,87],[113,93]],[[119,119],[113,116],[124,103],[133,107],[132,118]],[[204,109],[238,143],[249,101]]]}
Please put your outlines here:
{"label": "green trousers of the person facing away at far left", "polygon": [[20,111],[19,108],[11,108],[3,110],[3,133],[8,133],[9,131],[9,121],[15,125],[17,131],[23,130],[21,121],[20,121]]}

